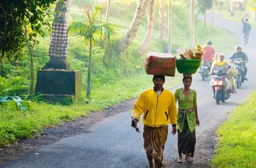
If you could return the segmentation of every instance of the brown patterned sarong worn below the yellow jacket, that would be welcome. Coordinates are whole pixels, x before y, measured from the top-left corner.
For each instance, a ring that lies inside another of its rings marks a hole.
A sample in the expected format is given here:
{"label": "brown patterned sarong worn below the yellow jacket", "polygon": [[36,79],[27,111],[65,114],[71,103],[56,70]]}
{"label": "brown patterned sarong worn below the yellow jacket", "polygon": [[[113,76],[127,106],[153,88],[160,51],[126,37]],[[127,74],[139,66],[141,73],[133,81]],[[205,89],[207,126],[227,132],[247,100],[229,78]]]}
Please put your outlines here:
{"label": "brown patterned sarong worn below the yellow jacket", "polygon": [[144,149],[146,155],[151,155],[159,165],[163,165],[163,150],[167,139],[168,126],[148,127],[144,125]]}

